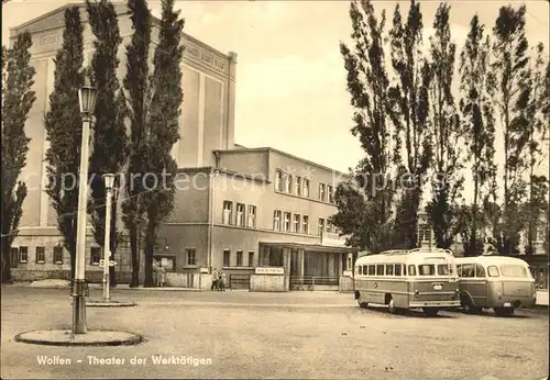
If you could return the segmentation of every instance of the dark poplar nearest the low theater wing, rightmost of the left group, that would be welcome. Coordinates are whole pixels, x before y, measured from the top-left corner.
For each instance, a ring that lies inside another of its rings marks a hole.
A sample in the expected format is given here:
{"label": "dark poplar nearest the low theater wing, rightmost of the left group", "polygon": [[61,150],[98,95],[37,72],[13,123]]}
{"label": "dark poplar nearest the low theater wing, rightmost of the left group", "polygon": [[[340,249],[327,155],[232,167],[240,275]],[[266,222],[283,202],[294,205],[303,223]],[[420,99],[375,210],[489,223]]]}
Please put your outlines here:
{"label": "dark poplar nearest the low theater wing, rightmost of the left group", "polygon": [[[161,224],[174,209],[174,178],[177,163],[172,147],[179,138],[182,113],[182,59],[184,48],[182,32],[184,21],[174,11],[174,0],[162,0],[161,31],[154,55],[154,72],[151,77],[152,100],[147,134],[147,183],[152,191],[144,193],[147,221],[145,232],[145,287],[153,286],[153,254]],[[151,176],[154,174],[154,177]],[[156,188],[154,188],[156,183]],[[151,185],[153,185],[151,187]]]}

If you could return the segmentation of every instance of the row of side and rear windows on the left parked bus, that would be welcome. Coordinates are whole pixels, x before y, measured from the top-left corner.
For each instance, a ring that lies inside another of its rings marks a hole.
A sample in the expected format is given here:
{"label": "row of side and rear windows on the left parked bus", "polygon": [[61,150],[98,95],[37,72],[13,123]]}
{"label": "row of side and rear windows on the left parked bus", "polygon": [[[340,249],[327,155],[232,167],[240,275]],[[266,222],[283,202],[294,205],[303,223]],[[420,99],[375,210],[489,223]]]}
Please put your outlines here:
{"label": "row of side and rear windows on the left parked bus", "polygon": [[[405,264],[372,264],[358,267],[361,276],[439,276],[452,275],[452,266],[447,264],[421,264],[418,266]],[[408,275],[407,275],[408,272]]]}

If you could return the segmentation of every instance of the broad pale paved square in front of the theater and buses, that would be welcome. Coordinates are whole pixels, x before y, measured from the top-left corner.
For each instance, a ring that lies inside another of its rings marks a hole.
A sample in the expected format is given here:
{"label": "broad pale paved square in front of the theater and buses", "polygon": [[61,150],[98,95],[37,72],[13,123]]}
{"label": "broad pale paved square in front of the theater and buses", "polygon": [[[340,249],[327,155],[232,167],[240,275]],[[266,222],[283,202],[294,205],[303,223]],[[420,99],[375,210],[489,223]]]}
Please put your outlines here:
{"label": "broad pale paved square in front of the theater and buses", "polygon": [[[91,298],[100,297],[92,290]],[[2,287],[2,379],[540,380],[548,376],[544,311],[519,311],[515,317],[459,312],[441,312],[438,317],[414,312],[391,315],[383,308],[360,309],[352,294],[322,292],[114,290],[112,297],[135,301],[138,306],[89,308],[88,327],[139,333],[145,343],[128,347],[16,343],[13,337],[21,332],[70,327],[68,290]],[[166,362],[154,364],[161,355]],[[45,356],[70,364],[38,362]]]}

